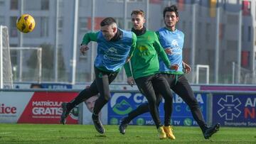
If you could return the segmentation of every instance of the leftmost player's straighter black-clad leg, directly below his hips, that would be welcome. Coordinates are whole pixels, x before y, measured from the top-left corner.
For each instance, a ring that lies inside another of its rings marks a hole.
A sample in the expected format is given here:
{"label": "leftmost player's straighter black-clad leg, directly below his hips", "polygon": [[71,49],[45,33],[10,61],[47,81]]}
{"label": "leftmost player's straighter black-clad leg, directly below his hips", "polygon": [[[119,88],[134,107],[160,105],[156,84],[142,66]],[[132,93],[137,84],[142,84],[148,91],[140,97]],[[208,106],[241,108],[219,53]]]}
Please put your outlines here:
{"label": "leftmost player's straighter black-clad leg, directly below his hips", "polygon": [[117,73],[102,72],[95,68],[95,81],[97,89],[100,92],[100,97],[95,101],[95,107],[92,113],[92,121],[95,125],[95,129],[99,133],[105,133],[102,122],[98,116],[101,109],[110,100],[110,87],[109,84],[117,77]]}

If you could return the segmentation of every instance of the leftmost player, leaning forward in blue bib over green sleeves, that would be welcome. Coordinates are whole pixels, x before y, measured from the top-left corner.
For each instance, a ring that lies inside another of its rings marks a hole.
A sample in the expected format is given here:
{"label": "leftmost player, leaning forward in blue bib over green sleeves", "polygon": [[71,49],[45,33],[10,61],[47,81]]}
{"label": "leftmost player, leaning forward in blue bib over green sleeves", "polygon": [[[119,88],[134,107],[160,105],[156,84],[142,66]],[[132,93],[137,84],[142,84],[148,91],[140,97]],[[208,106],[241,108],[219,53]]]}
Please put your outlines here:
{"label": "leftmost player, leaning forward in blue bib over green sleeves", "polygon": [[82,101],[100,93],[95,101],[92,113],[92,121],[99,133],[105,133],[105,128],[99,119],[98,113],[110,100],[109,84],[117,77],[117,73],[125,62],[132,57],[136,46],[137,37],[131,31],[124,31],[117,28],[114,18],[108,17],[100,23],[100,31],[97,33],[86,33],[82,39],[80,52],[85,54],[89,49],[87,44],[90,41],[97,42],[97,56],[95,58],[95,80],[89,88],[83,89],[78,96],[69,103],[63,103],[63,113],[60,116],[60,123],[65,124],[65,118],[70,110]]}

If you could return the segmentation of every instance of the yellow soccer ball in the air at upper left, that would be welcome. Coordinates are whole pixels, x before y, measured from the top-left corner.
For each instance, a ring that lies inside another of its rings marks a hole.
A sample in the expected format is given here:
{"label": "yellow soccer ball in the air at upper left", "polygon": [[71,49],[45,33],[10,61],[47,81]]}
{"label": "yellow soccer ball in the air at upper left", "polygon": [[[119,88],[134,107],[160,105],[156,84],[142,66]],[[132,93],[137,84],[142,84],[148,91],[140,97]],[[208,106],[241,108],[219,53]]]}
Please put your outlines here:
{"label": "yellow soccer ball in the air at upper left", "polygon": [[35,19],[29,14],[23,14],[16,21],[16,28],[22,33],[29,33],[33,31],[36,26]]}

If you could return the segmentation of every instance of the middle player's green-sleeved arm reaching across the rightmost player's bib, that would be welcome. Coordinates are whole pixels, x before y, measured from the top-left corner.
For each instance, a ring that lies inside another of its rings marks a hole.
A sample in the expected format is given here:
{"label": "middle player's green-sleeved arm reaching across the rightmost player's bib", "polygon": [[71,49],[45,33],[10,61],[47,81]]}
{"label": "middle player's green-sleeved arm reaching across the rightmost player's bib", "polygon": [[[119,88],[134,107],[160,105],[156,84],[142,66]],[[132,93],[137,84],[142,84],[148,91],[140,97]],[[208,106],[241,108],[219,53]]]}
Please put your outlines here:
{"label": "middle player's green-sleeved arm reaching across the rightmost player's bib", "polygon": [[161,59],[164,61],[164,64],[169,67],[171,70],[178,70],[178,65],[171,65],[171,62],[169,61],[166,52],[164,51],[164,48],[162,48],[161,44],[159,43],[159,39],[156,35],[155,35],[155,40],[154,40],[154,48],[157,52],[157,54],[159,55],[159,57],[161,57]]}

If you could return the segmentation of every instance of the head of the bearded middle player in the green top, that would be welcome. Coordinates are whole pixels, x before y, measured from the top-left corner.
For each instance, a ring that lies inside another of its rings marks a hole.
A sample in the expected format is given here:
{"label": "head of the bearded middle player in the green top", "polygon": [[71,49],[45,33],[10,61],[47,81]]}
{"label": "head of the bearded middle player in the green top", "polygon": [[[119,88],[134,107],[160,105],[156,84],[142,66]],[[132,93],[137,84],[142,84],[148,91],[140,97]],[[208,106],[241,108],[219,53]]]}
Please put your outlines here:
{"label": "head of the bearded middle player in the green top", "polygon": [[132,11],[132,28],[134,28],[134,30],[141,30],[143,28],[144,23],[146,22],[144,15],[144,11],[140,9]]}

